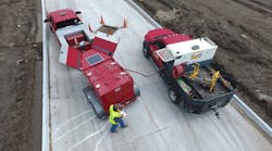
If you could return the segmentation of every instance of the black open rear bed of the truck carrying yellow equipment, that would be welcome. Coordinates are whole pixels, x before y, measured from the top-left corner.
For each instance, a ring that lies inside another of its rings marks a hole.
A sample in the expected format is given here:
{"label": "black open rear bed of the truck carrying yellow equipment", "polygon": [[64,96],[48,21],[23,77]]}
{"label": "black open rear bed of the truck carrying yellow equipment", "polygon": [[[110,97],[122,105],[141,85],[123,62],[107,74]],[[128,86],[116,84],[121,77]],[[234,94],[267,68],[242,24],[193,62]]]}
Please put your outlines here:
{"label": "black open rear bed of the truck carrying yellow equipment", "polygon": [[[199,114],[213,110],[218,115],[217,110],[225,106],[231,101],[234,90],[224,86],[222,79],[219,78],[213,91],[210,91],[209,79],[211,79],[212,73],[208,66],[200,68],[198,77],[194,80],[188,78],[190,73],[186,72],[180,78],[172,79],[169,84],[170,100],[175,104],[183,103],[184,109],[190,113]],[[172,77],[164,74],[162,78],[171,79]],[[208,85],[205,85],[207,79]]]}

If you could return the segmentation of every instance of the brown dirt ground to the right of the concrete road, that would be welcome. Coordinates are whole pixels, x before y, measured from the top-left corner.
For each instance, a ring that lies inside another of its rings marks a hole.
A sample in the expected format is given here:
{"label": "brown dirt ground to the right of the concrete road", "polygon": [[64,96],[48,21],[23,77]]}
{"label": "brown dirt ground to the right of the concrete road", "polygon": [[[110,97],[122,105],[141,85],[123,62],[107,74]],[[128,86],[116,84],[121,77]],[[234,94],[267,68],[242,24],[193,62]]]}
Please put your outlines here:
{"label": "brown dirt ground to the right of the concrete road", "polygon": [[270,0],[134,0],[162,26],[219,45],[215,62],[232,73],[236,93],[272,126]]}

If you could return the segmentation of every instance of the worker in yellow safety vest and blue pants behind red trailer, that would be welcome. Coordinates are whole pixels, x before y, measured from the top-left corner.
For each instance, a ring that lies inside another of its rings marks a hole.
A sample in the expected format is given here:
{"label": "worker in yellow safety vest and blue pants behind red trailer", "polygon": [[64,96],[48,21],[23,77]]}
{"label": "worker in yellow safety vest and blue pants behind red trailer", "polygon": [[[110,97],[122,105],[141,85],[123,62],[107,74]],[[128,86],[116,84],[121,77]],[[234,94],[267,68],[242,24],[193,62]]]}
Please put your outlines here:
{"label": "worker in yellow safety vest and blue pants behind red trailer", "polygon": [[124,123],[124,121],[122,119],[122,115],[121,115],[121,104],[111,104],[110,105],[110,117],[109,117],[109,122],[111,123],[111,131],[115,133],[116,128],[118,128],[118,124],[121,125],[122,128],[126,127],[127,125]]}

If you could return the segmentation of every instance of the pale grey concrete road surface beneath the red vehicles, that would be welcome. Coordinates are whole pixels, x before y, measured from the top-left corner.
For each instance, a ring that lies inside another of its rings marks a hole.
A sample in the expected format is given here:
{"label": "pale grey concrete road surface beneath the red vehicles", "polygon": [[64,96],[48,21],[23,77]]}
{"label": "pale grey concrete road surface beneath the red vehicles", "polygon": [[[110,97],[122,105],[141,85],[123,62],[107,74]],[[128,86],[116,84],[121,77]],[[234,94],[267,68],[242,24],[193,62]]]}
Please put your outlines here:
{"label": "pale grey concrete road surface beneath the red vehicles", "polygon": [[[71,8],[83,13],[83,22],[92,29],[99,27],[103,15],[106,24],[128,28],[115,33],[121,42],[114,54],[127,70],[145,74],[156,72],[141,54],[144,35],[154,28],[124,0],[47,0],[48,12]],[[141,96],[125,108],[127,128],[116,134],[109,131],[108,121],[99,119],[87,102],[82,89],[87,86],[83,74],[58,62],[60,46],[48,30],[50,71],[50,122],[53,151],[208,151],[208,150],[272,150],[271,138],[263,137],[233,105],[220,110],[218,119],[213,112],[196,115],[185,113],[172,104],[168,88],[156,74],[143,77],[131,73]]]}

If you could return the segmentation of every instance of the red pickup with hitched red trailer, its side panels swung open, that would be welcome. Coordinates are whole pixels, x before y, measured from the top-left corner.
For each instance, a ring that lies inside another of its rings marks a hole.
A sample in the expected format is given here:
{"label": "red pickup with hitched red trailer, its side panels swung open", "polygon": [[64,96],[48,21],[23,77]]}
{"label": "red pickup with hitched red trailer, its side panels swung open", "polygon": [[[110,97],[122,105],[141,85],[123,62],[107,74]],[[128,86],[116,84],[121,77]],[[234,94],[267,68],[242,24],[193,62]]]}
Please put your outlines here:
{"label": "red pickup with hitched red trailer, its side panels swung open", "polygon": [[[112,58],[120,38],[99,30],[90,32],[77,16],[79,13],[71,9],[58,10],[48,13],[45,22],[49,22],[61,45],[59,62],[83,71],[88,80],[83,91],[97,116],[103,118],[110,104],[131,103],[139,96],[139,89]],[[108,25],[103,28],[109,28],[111,34],[118,29]]]}

